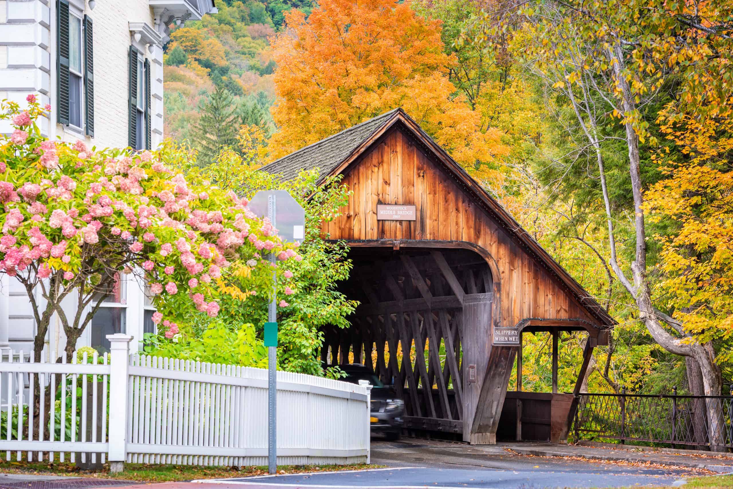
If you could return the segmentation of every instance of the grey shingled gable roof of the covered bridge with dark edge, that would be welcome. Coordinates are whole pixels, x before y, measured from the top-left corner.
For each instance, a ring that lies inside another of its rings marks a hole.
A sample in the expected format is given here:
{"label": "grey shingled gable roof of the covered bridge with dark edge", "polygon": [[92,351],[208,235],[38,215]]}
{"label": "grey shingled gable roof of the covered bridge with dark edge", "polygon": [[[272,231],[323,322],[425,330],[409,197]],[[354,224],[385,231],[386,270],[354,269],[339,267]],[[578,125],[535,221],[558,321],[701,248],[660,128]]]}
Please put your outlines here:
{"label": "grey shingled gable roof of the covered bridge with dark edge", "polygon": [[413,135],[421,141],[428,149],[432,150],[435,157],[445,165],[446,169],[454,174],[468,193],[474,194],[484,204],[487,210],[498,222],[531,254],[542,261],[545,266],[564,285],[572,291],[575,298],[589,310],[593,316],[599,319],[605,326],[616,324],[614,318],[606,313],[598,302],[591,298],[590,294],[575,281],[574,278],[559,263],[555,261],[545,248],[530,235],[517,220],[507,212],[486,190],[476,182],[438,143],[432,140],[430,135],[421,129],[420,125],[408,116],[402,108],[376,116],[373,119],[356,124],[342,132],[322,139],[317,143],[299,149],[279,160],[265,165],[261,169],[268,173],[280,173],[284,180],[289,180],[298,175],[301,170],[318,168],[321,180],[327,176],[336,175],[345,171],[359,155],[367,152],[372,143],[383,135],[394,124],[401,122]]}

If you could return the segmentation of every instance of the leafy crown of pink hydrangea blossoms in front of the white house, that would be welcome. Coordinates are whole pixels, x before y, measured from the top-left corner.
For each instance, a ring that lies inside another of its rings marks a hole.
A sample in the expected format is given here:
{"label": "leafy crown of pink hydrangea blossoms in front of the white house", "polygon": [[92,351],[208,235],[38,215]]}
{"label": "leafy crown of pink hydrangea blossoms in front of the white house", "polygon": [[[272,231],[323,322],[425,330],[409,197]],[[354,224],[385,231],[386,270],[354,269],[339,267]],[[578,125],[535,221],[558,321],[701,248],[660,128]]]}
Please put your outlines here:
{"label": "leafy crown of pink hydrangea blossoms in front of the white house", "polygon": [[[29,144],[43,168],[28,182],[0,182],[0,204],[5,204],[0,269],[15,274],[37,262],[38,276],[49,277],[54,273],[49,263],[56,266],[59,261],[45,259],[55,258],[70,264],[63,267],[63,277],[74,280],[80,246],[116,247],[137,254],[135,263],[146,272],[156,301],[177,304],[180,291],[197,310],[215,317],[220,306],[207,301],[210,284],[223,275],[229,260],[243,252],[254,254],[248,264],[255,268],[261,257],[252,253],[253,247],[276,253],[280,261],[302,259],[279,244],[272,223],[256,220],[246,199],[231,191],[226,197],[210,189],[194,191],[183,175],[172,173],[151,152],[113,157],[114,153],[92,152],[84,141],[72,146],[39,141],[32,126],[37,110],[32,105],[29,112],[12,116],[16,127],[10,142]],[[13,150],[30,152],[23,147]],[[6,165],[0,163],[2,173]],[[290,270],[284,276],[293,277]],[[285,294],[293,294],[292,288]],[[287,306],[285,301],[280,304]],[[163,322],[168,328],[166,337],[177,334],[178,326],[163,320],[163,313],[153,315],[155,324]]]}

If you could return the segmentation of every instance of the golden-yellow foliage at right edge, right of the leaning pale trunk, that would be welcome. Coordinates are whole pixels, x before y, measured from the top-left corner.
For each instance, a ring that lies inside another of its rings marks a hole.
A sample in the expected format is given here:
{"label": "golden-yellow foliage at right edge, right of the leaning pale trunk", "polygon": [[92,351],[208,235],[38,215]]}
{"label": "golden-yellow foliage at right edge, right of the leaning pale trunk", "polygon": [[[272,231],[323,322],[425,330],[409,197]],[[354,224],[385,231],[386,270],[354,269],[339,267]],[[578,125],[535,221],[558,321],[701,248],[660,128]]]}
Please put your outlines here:
{"label": "golden-yellow foliage at right edge, right of the leaning pale trunk", "polygon": [[[646,194],[650,220],[671,220],[678,228],[656,236],[665,272],[658,295],[699,342],[728,340],[733,335],[733,120],[683,116],[665,122],[663,133],[685,159],[668,161],[663,153],[667,178]],[[733,358],[729,347],[718,354],[718,362]]]}

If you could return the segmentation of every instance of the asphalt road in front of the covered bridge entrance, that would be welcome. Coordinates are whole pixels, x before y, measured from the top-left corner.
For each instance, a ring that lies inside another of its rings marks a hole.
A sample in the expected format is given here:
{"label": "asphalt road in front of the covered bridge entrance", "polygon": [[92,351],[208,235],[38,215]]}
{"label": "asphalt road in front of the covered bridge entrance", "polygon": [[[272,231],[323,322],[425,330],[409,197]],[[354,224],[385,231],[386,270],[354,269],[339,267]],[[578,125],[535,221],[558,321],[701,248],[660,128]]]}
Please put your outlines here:
{"label": "asphalt road in front of the covered bridge entrance", "polygon": [[[681,485],[685,477],[692,475],[685,469],[529,457],[507,452],[500,446],[471,447],[416,439],[372,440],[372,463],[386,465],[388,469],[284,474],[218,482],[228,486],[226,489],[618,488]],[[210,485],[202,489],[224,488]]]}

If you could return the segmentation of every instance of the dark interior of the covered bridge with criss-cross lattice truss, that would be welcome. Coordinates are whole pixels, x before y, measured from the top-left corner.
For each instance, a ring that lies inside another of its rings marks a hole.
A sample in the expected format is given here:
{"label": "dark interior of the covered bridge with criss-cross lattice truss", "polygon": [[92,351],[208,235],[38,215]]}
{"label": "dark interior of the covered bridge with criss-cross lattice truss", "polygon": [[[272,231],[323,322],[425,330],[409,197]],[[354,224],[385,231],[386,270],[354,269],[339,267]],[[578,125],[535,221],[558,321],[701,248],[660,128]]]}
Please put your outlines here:
{"label": "dark interior of the covered bridge with criss-cross lattice truss", "polygon": [[394,383],[408,417],[425,419],[427,429],[460,431],[463,304],[491,299],[485,260],[467,250],[370,250],[352,258],[342,292],[361,305],[349,329],[324,329],[321,359],[363,363]]}

